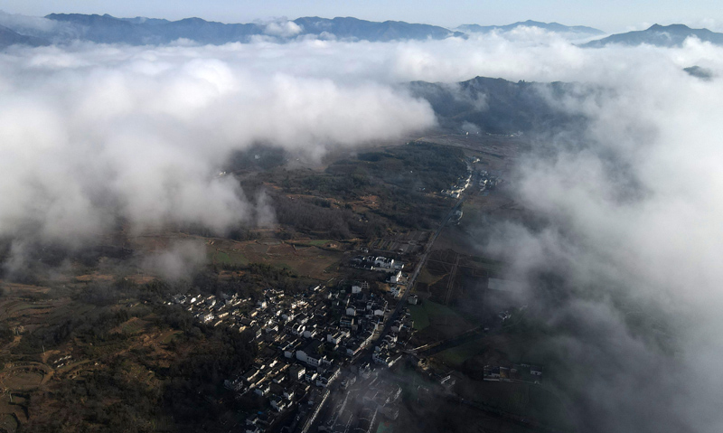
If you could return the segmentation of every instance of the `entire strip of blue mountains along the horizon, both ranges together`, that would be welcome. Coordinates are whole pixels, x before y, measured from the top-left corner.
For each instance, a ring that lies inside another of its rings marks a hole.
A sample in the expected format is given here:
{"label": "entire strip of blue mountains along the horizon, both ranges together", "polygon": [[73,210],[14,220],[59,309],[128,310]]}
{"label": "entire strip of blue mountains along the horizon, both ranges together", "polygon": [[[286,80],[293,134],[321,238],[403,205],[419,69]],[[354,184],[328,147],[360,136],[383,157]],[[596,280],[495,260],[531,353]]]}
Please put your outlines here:
{"label": "entire strip of blue mountains along the horizon, both ranges together", "polygon": [[[524,21],[506,25],[464,24],[455,29],[430,24],[401,21],[372,22],[353,17],[301,17],[289,21],[280,19],[268,23],[223,24],[201,18],[179,21],[135,17],[117,18],[109,14],[49,14],[44,18],[0,13],[0,48],[14,44],[42,46],[52,43],[88,41],[126,43],[129,45],[162,45],[179,40],[201,44],[221,45],[228,42],[254,42],[268,39],[284,42],[313,37],[345,41],[425,41],[449,37],[468,37],[472,34],[512,33],[536,28],[568,38],[594,38],[606,33],[582,25],[564,25]],[[693,29],[684,24],[654,24],[643,31],[616,33],[584,43],[586,48],[608,44],[651,44],[662,47],[681,46],[690,37],[702,42],[723,44],[723,33],[708,29]]]}

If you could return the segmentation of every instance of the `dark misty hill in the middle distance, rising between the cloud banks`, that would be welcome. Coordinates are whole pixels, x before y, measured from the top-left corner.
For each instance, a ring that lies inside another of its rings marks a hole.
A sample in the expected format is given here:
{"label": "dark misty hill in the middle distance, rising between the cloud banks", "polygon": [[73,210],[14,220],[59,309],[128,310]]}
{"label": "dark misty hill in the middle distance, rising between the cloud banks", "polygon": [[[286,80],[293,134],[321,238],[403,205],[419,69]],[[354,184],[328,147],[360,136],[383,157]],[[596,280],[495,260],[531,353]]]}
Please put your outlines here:
{"label": "dark misty hill in the middle distance, rising between the cloud banks", "polygon": [[491,134],[514,134],[579,122],[580,118],[550,105],[551,100],[568,94],[571,86],[476,77],[454,85],[415,81],[408,89],[415,97],[427,99],[443,127],[458,129],[471,123]]}

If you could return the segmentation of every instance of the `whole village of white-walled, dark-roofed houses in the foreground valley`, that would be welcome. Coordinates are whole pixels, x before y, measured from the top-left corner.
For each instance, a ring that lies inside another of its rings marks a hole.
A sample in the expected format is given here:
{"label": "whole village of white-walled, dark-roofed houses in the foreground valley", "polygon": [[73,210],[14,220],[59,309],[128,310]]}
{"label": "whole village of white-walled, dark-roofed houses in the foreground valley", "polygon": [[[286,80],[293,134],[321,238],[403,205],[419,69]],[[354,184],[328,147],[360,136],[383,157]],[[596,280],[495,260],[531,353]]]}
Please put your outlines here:
{"label": "whole village of white-walled, dark-roofed houses in the foreground valley", "polygon": [[[403,264],[373,259],[390,272],[396,287],[403,279]],[[390,298],[399,297],[396,290]],[[381,380],[378,370],[402,359],[413,323],[404,308],[390,332],[378,340],[392,308],[387,297],[372,293],[368,282],[315,285],[295,296],[268,288],[255,303],[223,294],[176,295],[167,303],[186,307],[205,324],[248,331],[258,344],[252,367],[224,381],[239,400],[260,406],[249,413],[245,431],[306,432],[318,425],[326,431],[362,432],[370,431],[378,417],[396,418],[399,386]],[[338,408],[322,419],[332,393]]]}

